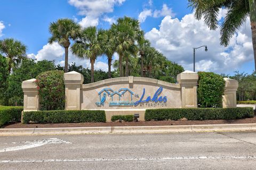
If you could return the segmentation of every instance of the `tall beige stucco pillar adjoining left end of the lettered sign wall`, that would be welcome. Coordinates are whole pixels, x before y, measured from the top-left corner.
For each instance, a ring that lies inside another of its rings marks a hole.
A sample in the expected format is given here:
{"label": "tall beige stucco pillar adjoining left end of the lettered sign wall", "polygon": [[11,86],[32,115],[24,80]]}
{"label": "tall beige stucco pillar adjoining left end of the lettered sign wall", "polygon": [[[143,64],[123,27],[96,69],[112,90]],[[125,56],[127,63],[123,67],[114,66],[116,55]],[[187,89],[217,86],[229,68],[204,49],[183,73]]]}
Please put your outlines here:
{"label": "tall beige stucco pillar adjoining left end of the lettered sign wall", "polygon": [[64,74],[65,83],[65,110],[81,109],[81,92],[84,77],[82,74],[71,71]]}

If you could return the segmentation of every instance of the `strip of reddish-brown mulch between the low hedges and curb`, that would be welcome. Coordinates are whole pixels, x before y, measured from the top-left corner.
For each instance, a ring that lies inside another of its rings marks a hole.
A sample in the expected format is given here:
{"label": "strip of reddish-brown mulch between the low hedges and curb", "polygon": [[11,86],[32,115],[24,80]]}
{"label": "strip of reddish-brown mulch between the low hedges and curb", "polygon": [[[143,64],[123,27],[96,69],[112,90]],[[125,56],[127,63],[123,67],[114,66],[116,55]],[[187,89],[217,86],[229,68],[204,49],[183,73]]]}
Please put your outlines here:
{"label": "strip of reddish-brown mulch between the low hedges and curb", "polygon": [[14,123],[2,128],[71,128],[97,126],[166,126],[166,125],[198,125],[198,124],[239,124],[256,123],[256,116],[239,120],[206,120],[206,121],[139,121],[139,122],[107,122],[107,123],[56,123],[56,124],[22,124]]}

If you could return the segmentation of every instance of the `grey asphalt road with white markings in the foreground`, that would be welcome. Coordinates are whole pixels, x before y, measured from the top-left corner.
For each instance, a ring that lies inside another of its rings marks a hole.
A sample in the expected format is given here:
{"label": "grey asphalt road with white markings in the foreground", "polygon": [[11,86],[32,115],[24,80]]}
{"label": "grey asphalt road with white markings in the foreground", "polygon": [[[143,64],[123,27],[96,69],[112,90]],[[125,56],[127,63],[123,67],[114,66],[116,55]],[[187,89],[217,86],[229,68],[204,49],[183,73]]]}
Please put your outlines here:
{"label": "grey asphalt road with white markings in the foreground", "polygon": [[0,137],[0,169],[255,168],[255,131]]}

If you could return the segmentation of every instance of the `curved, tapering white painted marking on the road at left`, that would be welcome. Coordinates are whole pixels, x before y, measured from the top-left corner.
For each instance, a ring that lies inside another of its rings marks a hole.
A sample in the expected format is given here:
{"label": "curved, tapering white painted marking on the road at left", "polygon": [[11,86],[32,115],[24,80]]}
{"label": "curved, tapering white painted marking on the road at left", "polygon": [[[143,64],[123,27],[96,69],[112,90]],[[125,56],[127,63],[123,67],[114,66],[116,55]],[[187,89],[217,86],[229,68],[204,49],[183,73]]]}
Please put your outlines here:
{"label": "curved, tapering white painted marking on the road at left", "polygon": [[58,138],[50,138],[50,139],[43,139],[43,140],[12,142],[12,143],[28,143],[28,145],[0,149],[0,152],[8,152],[8,151],[15,151],[15,150],[35,148],[35,147],[40,147],[40,146],[43,146],[43,145],[46,145],[46,144],[71,143],[71,142],[68,142],[68,141],[65,141],[65,140],[61,140],[61,139],[58,139]]}

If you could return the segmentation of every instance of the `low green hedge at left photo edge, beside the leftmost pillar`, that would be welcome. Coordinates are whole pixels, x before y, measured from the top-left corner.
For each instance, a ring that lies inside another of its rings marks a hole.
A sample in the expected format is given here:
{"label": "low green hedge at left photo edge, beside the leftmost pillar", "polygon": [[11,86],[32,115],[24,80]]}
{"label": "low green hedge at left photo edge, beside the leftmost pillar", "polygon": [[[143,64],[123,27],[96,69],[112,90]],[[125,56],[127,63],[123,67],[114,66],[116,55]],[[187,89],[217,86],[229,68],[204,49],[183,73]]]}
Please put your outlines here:
{"label": "low green hedge at left photo edge, beside the leftmost pillar", "polygon": [[20,121],[22,111],[21,106],[0,106],[0,126],[12,121]]}

